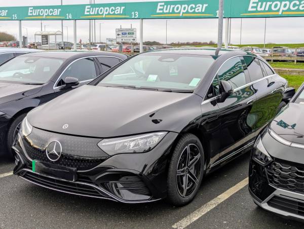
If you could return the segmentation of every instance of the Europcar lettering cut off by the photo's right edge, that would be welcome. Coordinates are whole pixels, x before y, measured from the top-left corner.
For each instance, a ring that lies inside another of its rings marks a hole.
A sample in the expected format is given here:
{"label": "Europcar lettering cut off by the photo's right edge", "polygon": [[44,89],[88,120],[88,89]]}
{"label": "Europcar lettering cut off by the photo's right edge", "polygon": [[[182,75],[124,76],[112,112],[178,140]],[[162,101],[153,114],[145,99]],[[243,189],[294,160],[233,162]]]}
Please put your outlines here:
{"label": "Europcar lettering cut off by the photo's right edge", "polygon": [[251,11],[252,13],[241,15],[304,14],[304,1],[268,2],[261,0],[250,0],[248,11]]}

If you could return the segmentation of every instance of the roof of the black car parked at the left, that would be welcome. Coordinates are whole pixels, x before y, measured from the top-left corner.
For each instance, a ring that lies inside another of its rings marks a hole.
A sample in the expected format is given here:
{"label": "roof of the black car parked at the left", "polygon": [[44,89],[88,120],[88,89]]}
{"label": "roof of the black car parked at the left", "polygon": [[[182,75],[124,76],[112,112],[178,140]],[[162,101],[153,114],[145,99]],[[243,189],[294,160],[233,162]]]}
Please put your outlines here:
{"label": "roof of the black car parked at the left", "polygon": [[106,51],[47,51],[39,53],[27,53],[22,56],[37,56],[37,57],[50,57],[50,58],[60,58],[60,59],[69,59],[69,58],[78,58],[86,56],[116,56],[123,59],[126,59],[125,54],[106,52]]}

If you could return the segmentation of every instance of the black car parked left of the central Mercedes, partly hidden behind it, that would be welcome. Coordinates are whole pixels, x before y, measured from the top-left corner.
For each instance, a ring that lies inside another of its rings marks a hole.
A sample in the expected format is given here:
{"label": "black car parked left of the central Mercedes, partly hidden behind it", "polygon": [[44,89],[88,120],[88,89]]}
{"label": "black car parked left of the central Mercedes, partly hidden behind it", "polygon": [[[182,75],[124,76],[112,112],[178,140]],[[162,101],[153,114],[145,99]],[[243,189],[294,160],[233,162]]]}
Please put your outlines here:
{"label": "black car parked left of the central Mercedes, partly hidden behind it", "polygon": [[109,52],[50,51],[23,54],[1,64],[0,154],[12,153],[27,112],[87,84],[126,58]]}

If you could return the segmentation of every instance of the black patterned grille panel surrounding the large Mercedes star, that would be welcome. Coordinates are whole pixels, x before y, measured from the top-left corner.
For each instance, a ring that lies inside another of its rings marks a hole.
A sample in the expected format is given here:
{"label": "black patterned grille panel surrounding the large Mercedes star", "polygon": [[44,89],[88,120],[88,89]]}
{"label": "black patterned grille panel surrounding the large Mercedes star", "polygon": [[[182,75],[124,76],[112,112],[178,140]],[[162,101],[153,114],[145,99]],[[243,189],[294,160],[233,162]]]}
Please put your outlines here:
{"label": "black patterned grille panel surrounding the large Mercedes star", "polygon": [[[58,140],[62,145],[61,157],[55,162],[50,161],[45,152],[52,139]],[[32,133],[22,141],[27,155],[32,160],[55,163],[78,170],[90,170],[109,157],[98,148],[97,143],[100,139],[66,136],[33,128]]]}

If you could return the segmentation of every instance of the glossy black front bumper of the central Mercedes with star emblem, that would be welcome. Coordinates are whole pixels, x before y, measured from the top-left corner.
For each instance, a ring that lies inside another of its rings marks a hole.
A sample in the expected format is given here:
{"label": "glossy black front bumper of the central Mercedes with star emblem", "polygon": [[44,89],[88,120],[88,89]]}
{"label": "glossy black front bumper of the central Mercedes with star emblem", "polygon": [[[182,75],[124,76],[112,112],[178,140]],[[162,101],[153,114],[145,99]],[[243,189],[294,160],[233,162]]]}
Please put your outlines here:
{"label": "glossy black front bumper of the central Mercedes with star emblem", "polygon": [[[29,156],[28,148],[18,134],[12,147],[16,158],[14,174],[61,192],[122,203],[153,202],[166,197],[168,160],[177,136],[176,133],[168,133],[147,153],[113,155],[92,169],[78,170],[77,180],[68,181],[33,171],[32,161],[36,158]],[[50,165],[52,163],[50,161]]]}

